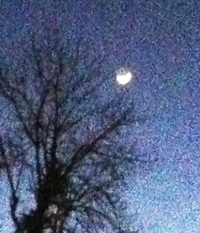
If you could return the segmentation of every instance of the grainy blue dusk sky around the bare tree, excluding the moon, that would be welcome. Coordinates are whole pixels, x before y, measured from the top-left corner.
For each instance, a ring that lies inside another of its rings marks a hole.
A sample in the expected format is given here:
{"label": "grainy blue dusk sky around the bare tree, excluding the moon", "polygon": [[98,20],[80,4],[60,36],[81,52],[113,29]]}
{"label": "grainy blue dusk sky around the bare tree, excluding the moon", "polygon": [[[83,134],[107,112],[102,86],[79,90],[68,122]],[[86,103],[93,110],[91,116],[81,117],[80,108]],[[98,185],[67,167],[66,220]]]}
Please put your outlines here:
{"label": "grainy blue dusk sky around the bare tree, excluding the moon", "polygon": [[[34,27],[39,33],[43,23],[38,11],[33,27],[30,19],[37,10],[31,3],[11,2],[2,1],[0,6],[2,64],[20,57],[21,41],[28,41]],[[60,1],[54,11],[51,1],[42,2],[38,9],[52,15],[52,25],[62,22],[62,41],[67,36],[76,40],[81,32],[86,40],[95,41],[91,46],[96,46],[97,56],[105,57],[101,75],[107,79],[99,100],[119,95],[115,72],[120,67],[134,74],[126,100],[134,98],[135,114],[145,121],[125,128],[121,142],[130,148],[136,143],[137,154],[146,163],[128,178],[127,211],[133,226],[141,233],[200,232],[200,3]],[[67,36],[65,27],[70,28]],[[5,187],[3,183],[0,188],[1,210],[8,196]],[[1,212],[0,232],[9,232],[6,216]]]}

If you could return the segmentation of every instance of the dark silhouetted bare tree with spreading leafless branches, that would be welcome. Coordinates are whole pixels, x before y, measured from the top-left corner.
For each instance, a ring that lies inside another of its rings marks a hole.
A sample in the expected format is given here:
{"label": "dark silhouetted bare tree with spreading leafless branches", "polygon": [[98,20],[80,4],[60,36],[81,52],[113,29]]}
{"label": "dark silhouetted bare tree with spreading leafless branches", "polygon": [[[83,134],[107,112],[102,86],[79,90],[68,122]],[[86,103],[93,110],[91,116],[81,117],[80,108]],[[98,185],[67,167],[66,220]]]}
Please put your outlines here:
{"label": "dark silhouetted bare tree with spreading leafless branches", "polygon": [[[29,12],[17,57],[1,66],[1,170],[15,232],[130,232],[121,191],[136,157],[120,133],[135,121],[133,102],[108,81],[114,68],[102,67],[98,41],[68,30],[63,43],[50,9],[54,21]],[[23,211],[28,194],[35,205]]]}

